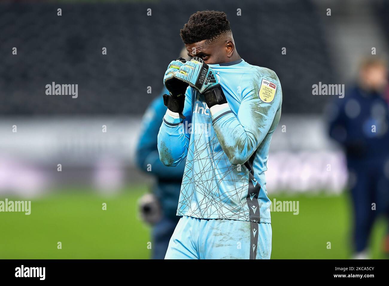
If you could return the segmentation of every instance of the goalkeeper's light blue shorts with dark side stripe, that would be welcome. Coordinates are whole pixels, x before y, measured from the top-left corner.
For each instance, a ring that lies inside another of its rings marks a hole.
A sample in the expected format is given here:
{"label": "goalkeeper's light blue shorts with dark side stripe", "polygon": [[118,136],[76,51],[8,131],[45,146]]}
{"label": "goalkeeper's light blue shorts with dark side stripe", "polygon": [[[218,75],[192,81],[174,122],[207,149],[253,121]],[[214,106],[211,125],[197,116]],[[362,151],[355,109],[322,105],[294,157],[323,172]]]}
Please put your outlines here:
{"label": "goalkeeper's light blue shorts with dark side stripe", "polygon": [[165,259],[270,259],[271,252],[270,223],[184,216]]}

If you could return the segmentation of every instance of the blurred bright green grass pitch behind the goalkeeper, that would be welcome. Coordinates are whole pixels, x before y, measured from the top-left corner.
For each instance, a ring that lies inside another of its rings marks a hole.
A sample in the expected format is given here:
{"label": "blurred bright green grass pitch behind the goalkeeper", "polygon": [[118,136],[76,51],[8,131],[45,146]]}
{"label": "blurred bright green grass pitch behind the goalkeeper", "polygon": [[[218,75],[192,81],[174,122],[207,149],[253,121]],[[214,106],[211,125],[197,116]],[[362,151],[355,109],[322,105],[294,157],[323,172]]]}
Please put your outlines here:
{"label": "blurred bright green grass pitch behind the goalkeeper", "polygon": [[[0,259],[147,259],[150,228],[137,214],[137,200],[146,190],[146,186],[136,186],[111,196],[63,190],[32,199],[29,216],[1,212]],[[272,212],[272,259],[350,258],[351,214],[346,193],[269,197],[300,204],[298,215]],[[106,211],[103,203],[107,203]],[[372,258],[385,258],[380,252],[385,224],[381,219],[373,229]],[[57,248],[58,242],[62,249]]]}

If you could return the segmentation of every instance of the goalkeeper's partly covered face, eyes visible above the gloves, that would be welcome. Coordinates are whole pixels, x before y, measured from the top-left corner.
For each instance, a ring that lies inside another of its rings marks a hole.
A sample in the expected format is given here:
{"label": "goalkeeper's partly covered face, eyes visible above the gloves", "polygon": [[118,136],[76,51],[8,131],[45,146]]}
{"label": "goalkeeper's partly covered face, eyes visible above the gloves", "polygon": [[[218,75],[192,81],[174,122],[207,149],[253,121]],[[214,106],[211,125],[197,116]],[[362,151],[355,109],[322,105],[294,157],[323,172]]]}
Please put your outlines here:
{"label": "goalkeeper's partly covered face, eyes visible above the gloves", "polygon": [[212,42],[211,44],[206,44],[205,40],[202,40],[193,44],[186,44],[185,47],[188,56],[192,58],[198,56],[209,65],[229,61],[224,40]]}

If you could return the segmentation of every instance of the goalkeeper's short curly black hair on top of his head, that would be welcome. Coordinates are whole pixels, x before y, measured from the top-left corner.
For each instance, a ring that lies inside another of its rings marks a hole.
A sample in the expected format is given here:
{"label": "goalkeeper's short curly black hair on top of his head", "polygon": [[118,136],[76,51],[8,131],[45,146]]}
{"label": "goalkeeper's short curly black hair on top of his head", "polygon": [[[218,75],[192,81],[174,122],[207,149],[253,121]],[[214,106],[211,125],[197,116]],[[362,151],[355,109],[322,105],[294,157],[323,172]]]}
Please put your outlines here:
{"label": "goalkeeper's short curly black hair on top of his head", "polygon": [[231,33],[227,15],[220,11],[197,11],[189,17],[188,23],[180,30],[184,44],[193,44],[202,40],[212,42],[223,34]]}

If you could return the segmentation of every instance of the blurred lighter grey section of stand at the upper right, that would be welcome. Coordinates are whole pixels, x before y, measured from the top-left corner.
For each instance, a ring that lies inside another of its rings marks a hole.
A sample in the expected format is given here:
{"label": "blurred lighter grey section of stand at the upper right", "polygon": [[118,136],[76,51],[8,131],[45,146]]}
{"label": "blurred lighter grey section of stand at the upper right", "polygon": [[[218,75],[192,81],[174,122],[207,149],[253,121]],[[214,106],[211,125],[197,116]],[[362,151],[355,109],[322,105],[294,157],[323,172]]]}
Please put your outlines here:
{"label": "blurred lighter grey section of stand at the upper right", "polygon": [[[375,47],[377,56],[385,58],[388,53],[387,0],[314,0],[321,11],[324,37],[328,45],[329,58],[335,82],[345,83],[346,88],[356,77],[362,58],[371,55]],[[331,16],[326,16],[331,9]]]}

